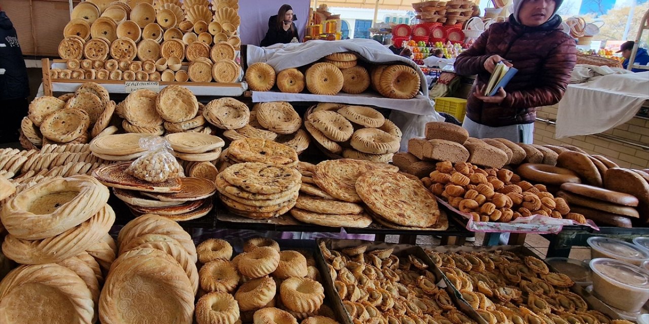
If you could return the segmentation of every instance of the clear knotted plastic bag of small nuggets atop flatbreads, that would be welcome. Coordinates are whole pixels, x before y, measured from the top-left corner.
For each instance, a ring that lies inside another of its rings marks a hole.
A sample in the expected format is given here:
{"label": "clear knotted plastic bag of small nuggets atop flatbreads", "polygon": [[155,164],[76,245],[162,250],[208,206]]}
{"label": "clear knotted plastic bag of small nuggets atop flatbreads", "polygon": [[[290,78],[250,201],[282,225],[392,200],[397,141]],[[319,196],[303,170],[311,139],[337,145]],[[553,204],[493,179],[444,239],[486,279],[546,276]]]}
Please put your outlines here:
{"label": "clear knotted plastic bag of small nuggets atop flatbreads", "polygon": [[126,170],[127,174],[151,183],[184,176],[182,167],[171,154],[171,145],[164,137],[143,137],[140,139],[140,147],[147,152],[131,163]]}

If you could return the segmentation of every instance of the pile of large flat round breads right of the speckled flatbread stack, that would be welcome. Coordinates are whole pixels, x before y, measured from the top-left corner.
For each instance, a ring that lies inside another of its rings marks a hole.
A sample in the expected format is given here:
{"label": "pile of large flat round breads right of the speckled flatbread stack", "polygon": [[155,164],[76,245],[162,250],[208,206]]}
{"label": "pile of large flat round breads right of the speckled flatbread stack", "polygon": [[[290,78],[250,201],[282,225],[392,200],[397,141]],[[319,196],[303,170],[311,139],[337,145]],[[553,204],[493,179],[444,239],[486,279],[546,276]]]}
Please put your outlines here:
{"label": "pile of large flat round breads right of the speckled flatbread stack", "polygon": [[391,165],[337,159],[300,163],[298,170],[302,184],[291,215],[300,222],[367,227],[374,220],[387,228],[421,229],[439,221],[434,196]]}

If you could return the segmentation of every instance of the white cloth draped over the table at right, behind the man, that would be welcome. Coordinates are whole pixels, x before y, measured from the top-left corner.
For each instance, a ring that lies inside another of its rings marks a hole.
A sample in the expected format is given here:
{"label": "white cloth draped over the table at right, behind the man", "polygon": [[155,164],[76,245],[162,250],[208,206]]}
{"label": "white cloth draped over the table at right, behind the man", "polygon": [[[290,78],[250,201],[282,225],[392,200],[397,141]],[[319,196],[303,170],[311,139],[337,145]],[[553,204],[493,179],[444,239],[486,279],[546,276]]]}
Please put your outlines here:
{"label": "white cloth draped over the table at right, behind the man", "polygon": [[606,132],[630,121],[644,100],[649,100],[649,72],[569,84],[559,102],[556,137]]}

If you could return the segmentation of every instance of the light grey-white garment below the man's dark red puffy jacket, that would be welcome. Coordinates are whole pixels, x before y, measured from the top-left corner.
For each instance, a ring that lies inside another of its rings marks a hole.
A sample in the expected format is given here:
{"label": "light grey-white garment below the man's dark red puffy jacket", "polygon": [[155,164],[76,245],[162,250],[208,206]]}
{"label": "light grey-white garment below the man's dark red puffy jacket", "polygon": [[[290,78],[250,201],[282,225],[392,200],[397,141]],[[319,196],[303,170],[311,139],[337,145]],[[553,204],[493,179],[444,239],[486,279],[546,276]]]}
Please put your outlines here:
{"label": "light grey-white garment below the man's dark red puffy jacket", "polygon": [[514,143],[533,144],[534,142],[534,123],[515,124],[502,127],[491,127],[478,124],[469,117],[464,117],[462,127],[469,132],[469,136],[478,139],[502,138],[509,139]]}

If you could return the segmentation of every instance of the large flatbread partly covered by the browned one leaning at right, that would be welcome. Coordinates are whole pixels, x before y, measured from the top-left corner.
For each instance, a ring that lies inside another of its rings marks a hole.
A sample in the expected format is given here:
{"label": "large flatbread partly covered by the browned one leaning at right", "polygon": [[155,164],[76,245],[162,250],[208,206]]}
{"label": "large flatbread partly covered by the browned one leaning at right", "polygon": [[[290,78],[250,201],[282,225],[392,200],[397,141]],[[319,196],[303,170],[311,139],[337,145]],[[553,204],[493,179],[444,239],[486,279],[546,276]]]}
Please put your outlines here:
{"label": "large flatbread partly covered by the browned one leaning at right", "polygon": [[362,202],[356,193],[356,179],[361,174],[377,169],[389,169],[398,171],[398,167],[391,165],[372,163],[354,159],[337,159],[323,161],[315,166],[313,180],[315,183],[336,199],[345,202]]}

